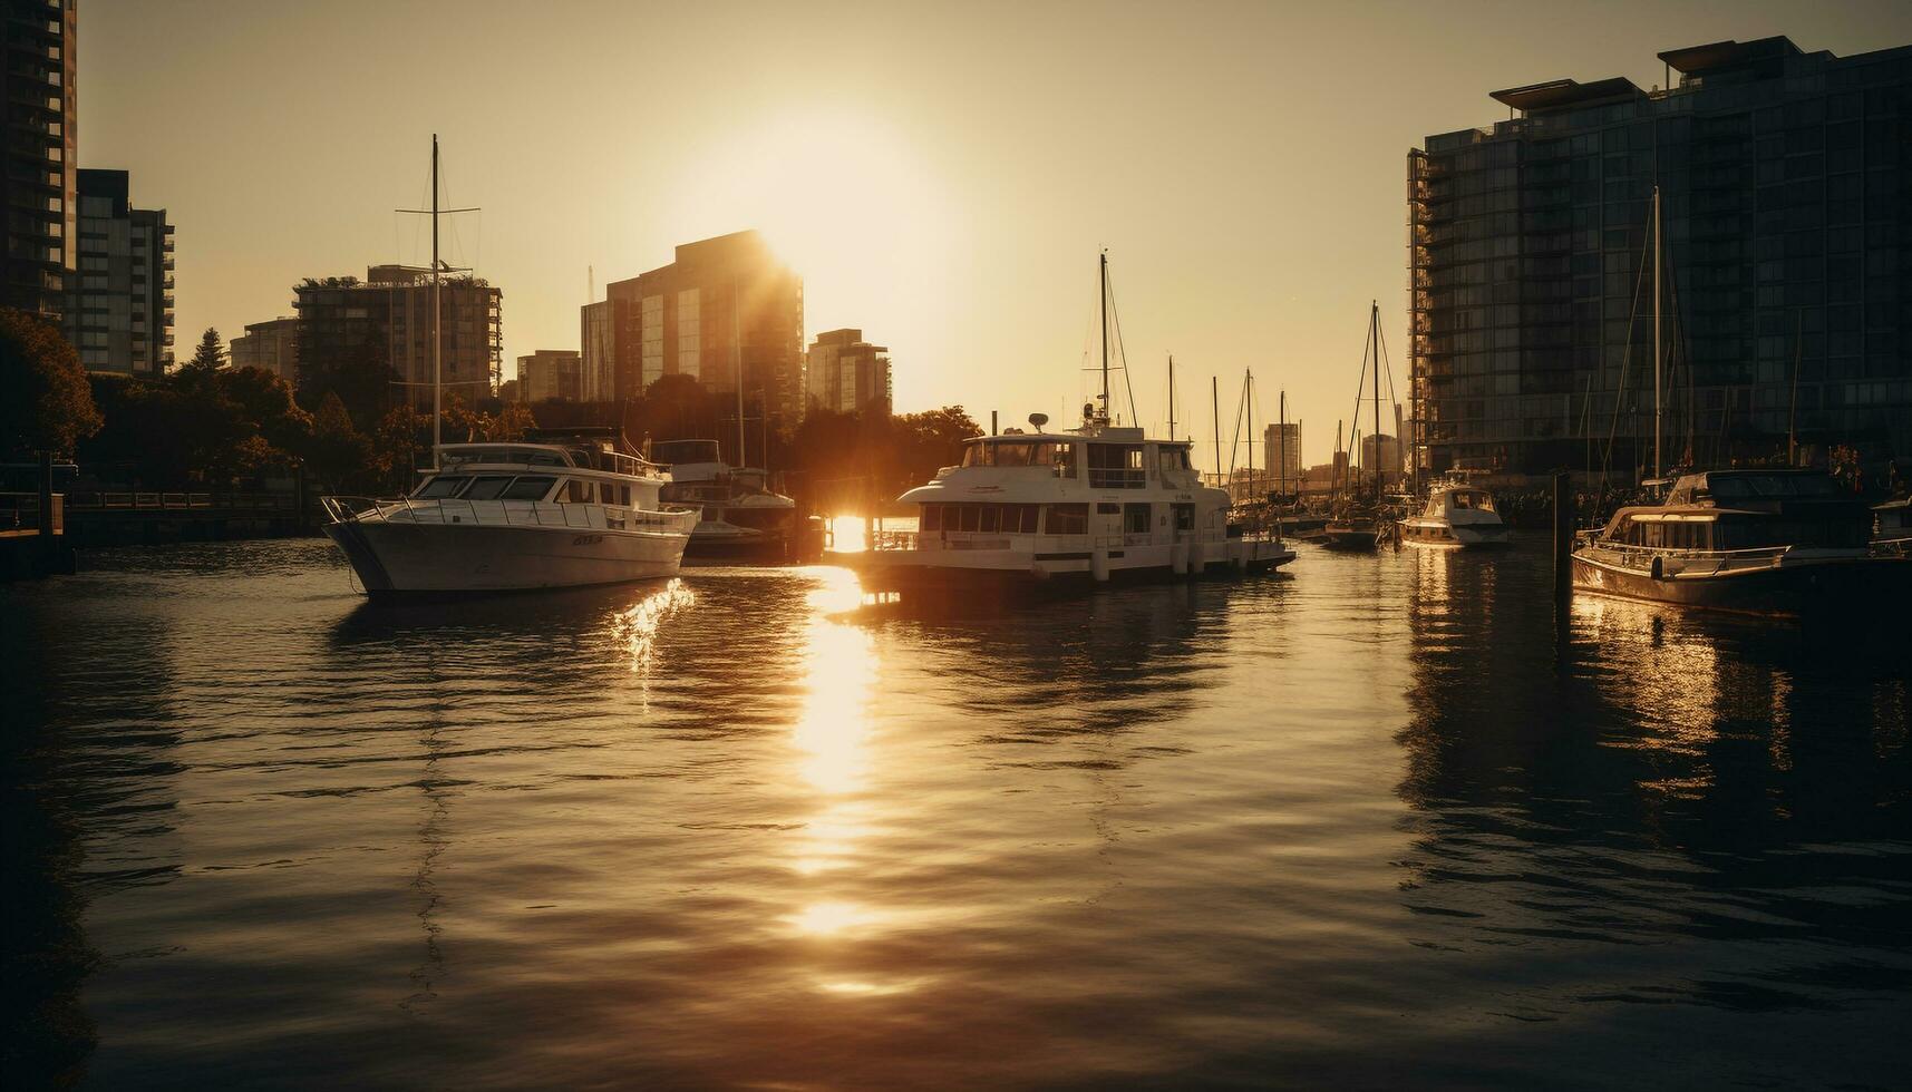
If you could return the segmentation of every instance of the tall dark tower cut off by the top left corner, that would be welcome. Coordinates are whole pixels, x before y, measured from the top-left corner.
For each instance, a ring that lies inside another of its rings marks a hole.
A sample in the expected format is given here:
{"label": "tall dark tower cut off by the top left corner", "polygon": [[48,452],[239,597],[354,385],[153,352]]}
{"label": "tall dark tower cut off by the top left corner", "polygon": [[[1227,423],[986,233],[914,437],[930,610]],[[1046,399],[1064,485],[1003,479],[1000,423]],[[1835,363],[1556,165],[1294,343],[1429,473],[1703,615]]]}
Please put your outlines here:
{"label": "tall dark tower cut off by the top left corner", "polygon": [[73,0],[6,0],[6,260],[0,304],[57,319],[76,277],[78,176]]}

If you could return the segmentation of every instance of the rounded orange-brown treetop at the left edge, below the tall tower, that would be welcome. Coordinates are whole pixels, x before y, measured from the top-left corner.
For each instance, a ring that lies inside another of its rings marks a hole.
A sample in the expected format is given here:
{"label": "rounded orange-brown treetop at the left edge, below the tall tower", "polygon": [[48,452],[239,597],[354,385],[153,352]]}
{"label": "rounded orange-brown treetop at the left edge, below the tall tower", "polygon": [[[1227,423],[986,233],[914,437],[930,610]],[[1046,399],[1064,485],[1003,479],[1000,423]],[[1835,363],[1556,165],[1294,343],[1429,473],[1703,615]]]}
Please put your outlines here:
{"label": "rounded orange-brown treetop at the left edge, below the tall tower", "polygon": [[0,308],[0,446],[10,455],[65,457],[99,432],[80,354],[40,316]]}

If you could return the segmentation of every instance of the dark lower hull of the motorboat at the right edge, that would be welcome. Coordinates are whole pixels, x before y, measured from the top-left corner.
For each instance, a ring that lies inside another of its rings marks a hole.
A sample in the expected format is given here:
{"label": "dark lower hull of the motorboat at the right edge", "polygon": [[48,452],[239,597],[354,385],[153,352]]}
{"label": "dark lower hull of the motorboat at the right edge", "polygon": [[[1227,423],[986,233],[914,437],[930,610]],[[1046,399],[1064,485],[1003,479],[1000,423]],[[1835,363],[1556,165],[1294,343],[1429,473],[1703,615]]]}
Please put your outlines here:
{"label": "dark lower hull of the motorboat at the right edge", "polygon": [[1774,564],[1725,574],[1671,574],[1574,555],[1574,591],[1698,610],[1776,618],[1866,616],[1912,602],[1912,560],[1893,557]]}

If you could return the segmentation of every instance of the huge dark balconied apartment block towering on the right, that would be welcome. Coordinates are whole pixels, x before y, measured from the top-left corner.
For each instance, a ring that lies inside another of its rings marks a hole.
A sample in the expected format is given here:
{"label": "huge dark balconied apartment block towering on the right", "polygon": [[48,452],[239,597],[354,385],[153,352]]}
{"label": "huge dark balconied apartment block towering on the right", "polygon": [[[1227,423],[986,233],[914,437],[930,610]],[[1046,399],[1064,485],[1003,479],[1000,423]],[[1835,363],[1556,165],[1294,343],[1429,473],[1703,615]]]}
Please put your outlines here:
{"label": "huge dark balconied apartment block towering on the right", "polygon": [[1795,371],[1803,442],[1912,449],[1912,46],[1660,59],[1677,86],[1509,88],[1509,120],[1409,151],[1423,467],[1539,474],[1612,434],[1652,472],[1656,184],[1665,465],[1784,455]]}

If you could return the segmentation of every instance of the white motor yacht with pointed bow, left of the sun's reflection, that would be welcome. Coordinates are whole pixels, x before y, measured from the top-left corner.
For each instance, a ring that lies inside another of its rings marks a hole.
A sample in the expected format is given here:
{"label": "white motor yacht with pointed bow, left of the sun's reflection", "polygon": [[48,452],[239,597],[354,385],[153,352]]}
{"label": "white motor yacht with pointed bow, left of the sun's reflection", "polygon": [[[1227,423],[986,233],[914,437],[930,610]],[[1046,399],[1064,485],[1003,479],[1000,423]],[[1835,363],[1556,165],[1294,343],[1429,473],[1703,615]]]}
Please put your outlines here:
{"label": "white motor yacht with pointed bow, left of the sun's reflection", "polygon": [[323,497],[325,534],[373,599],[675,576],[698,513],[662,507],[662,470],[608,432],[442,444],[407,497]]}

